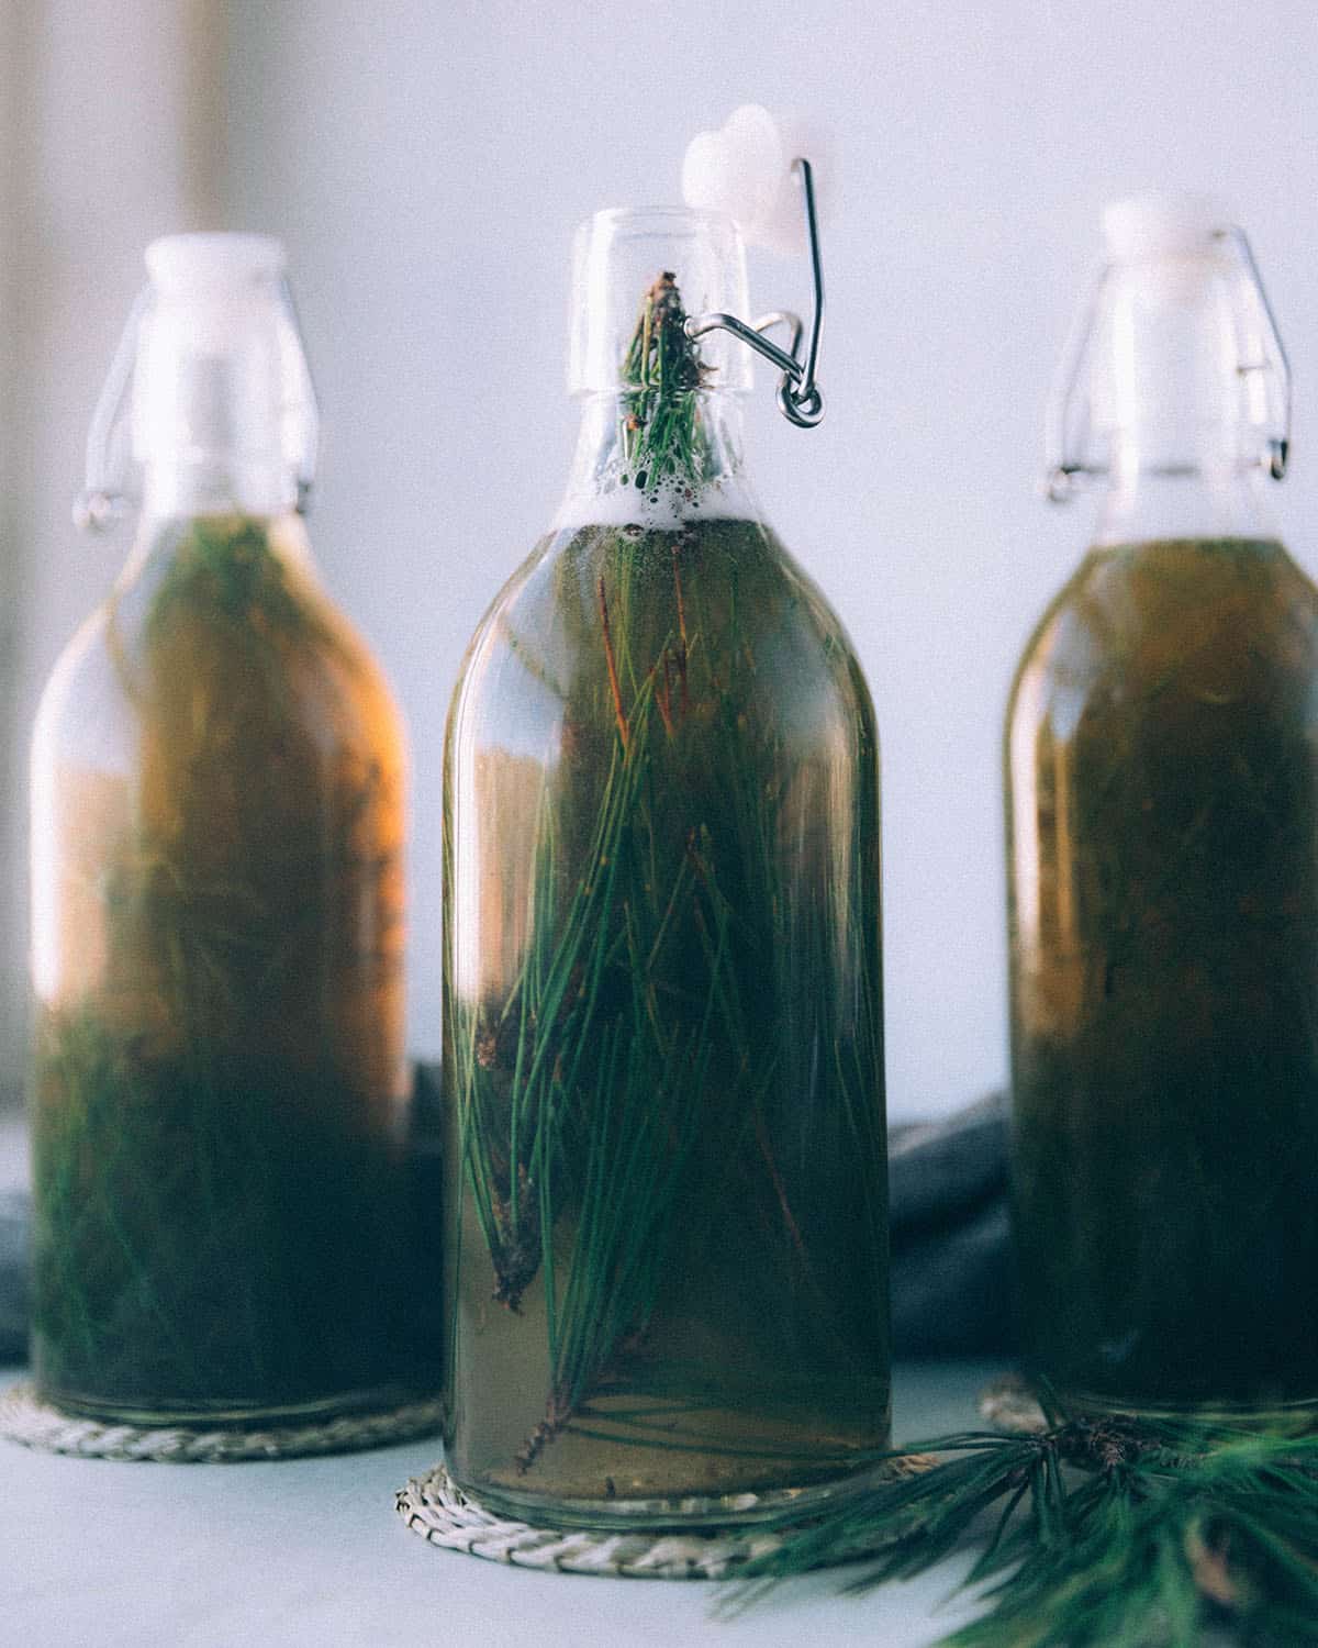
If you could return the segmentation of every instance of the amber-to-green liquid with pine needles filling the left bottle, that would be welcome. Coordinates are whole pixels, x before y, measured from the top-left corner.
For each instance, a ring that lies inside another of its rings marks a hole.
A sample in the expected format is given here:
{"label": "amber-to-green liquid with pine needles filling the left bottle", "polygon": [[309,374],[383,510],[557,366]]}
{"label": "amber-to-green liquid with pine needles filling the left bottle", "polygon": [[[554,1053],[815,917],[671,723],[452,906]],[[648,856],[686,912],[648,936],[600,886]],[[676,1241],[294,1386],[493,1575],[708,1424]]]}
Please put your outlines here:
{"label": "amber-to-green liquid with pine needles filling the left bottle", "polygon": [[105,648],[124,771],[56,775],[35,1373],[125,1421],[392,1398],[418,1292],[392,712],[257,517],[165,529]]}

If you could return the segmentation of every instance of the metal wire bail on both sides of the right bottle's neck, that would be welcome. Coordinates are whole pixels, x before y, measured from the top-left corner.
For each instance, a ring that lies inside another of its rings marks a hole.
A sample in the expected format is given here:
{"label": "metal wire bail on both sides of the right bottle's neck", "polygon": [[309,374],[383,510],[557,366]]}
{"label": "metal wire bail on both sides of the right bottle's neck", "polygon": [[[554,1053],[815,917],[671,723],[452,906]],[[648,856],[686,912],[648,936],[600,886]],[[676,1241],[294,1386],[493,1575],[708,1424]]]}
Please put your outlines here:
{"label": "metal wire bail on both sides of the right bottle's neck", "polygon": [[[1282,481],[1285,480],[1287,468],[1290,466],[1290,358],[1287,356],[1285,344],[1282,343],[1282,335],[1277,330],[1277,316],[1272,313],[1272,303],[1269,302],[1267,287],[1264,287],[1264,277],[1260,275],[1259,264],[1254,257],[1254,247],[1249,244],[1249,236],[1239,226],[1227,224],[1226,227],[1214,229],[1213,239],[1218,242],[1231,242],[1236,247],[1259,300],[1259,311],[1264,321],[1264,356],[1257,361],[1241,361],[1236,371],[1241,377],[1250,372],[1275,371],[1280,379],[1280,433],[1270,433],[1267,437],[1267,473],[1274,481]],[[1097,280],[1094,282],[1089,302],[1081,310],[1076,325],[1071,330],[1071,336],[1066,341],[1056,387],[1048,400],[1045,422],[1045,473],[1040,489],[1048,503],[1053,504],[1071,503],[1073,498],[1084,491],[1086,481],[1105,473],[1101,466],[1089,461],[1086,453],[1091,435],[1087,407],[1084,415],[1077,419],[1074,425],[1071,409],[1076,402],[1081,377],[1084,376],[1087,364],[1099,297],[1109,275],[1112,274],[1112,269],[1114,264],[1104,264]]]}

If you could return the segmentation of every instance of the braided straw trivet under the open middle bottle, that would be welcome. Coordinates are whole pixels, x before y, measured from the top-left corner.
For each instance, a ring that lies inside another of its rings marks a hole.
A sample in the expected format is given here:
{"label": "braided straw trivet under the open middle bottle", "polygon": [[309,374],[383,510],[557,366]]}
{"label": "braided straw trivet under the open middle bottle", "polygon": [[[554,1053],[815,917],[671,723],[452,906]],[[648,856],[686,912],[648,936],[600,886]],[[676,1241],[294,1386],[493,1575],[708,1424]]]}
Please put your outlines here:
{"label": "braided straw trivet under the open middle bottle", "polygon": [[[893,1475],[909,1477],[932,1463],[911,1454],[891,1462]],[[740,1505],[755,1505],[755,1495]],[[621,1579],[735,1579],[751,1557],[776,1551],[769,1528],[694,1528],[684,1533],[626,1533],[588,1528],[532,1528],[511,1521],[466,1495],[443,1465],[414,1477],[397,1495],[397,1511],[414,1534],[445,1551],[488,1562],[550,1569],[559,1574],[605,1574]],[[863,1547],[847,1556],[863,1556]]]}

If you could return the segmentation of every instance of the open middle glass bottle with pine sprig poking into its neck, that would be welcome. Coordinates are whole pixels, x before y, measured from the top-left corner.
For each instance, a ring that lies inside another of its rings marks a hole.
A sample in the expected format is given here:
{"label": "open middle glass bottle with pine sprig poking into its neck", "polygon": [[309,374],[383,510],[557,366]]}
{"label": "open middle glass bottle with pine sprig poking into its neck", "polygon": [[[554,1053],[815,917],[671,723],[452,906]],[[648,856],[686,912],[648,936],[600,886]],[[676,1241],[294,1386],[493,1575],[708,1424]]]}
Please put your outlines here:
{"label": "open middle glass bottle with pine sprig poking into its neck", "polygon": [[583,419],[446,735],[448,1434],[544,1521],[728,1521],[888,1439],[878,753],[741,465],[730,219],[578,237]]}

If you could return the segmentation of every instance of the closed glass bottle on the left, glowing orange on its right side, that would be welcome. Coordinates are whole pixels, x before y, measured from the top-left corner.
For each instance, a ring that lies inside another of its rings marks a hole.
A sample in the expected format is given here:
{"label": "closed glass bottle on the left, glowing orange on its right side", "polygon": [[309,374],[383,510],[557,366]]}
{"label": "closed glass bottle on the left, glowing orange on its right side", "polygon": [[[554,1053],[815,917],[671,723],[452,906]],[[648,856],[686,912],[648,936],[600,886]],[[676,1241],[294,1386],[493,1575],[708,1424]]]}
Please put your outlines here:
{"label": "closed glass bottle on the left, glowing orange on its right side", "polygon": [[402,727],[298,513],[282,246],[147,267],[89,443],[140,522],[33,743],[35,1378],[124,1422],[381,1406],[417,1378]]}

